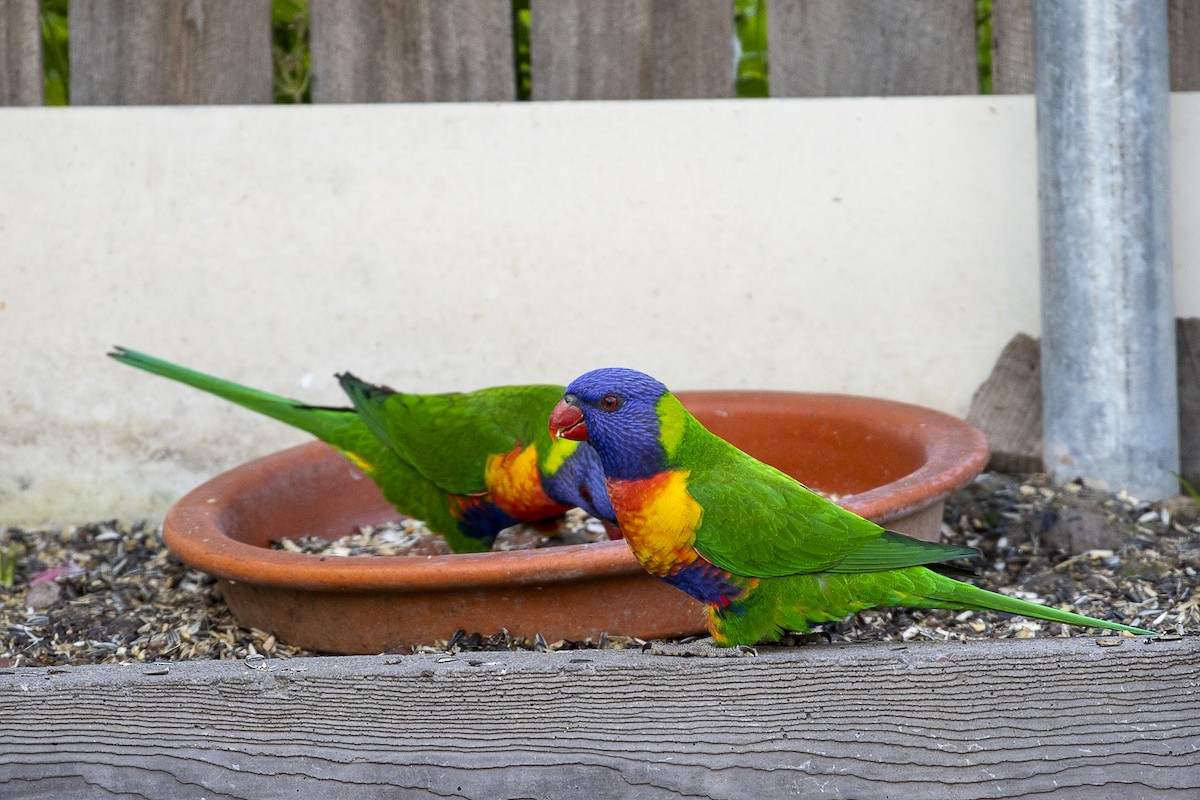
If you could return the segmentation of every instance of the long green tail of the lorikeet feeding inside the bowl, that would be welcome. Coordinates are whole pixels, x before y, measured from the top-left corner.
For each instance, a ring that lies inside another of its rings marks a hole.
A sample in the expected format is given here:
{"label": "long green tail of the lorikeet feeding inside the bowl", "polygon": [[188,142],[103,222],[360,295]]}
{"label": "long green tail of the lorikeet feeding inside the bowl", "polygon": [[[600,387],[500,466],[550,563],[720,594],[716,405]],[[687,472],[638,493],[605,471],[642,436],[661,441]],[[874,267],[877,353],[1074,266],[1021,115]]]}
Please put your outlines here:
{"label": "long green tail of the lorikeet feeding inside the bowl", "polygon": [[270,392],[251,389],[203,372],[196,372],[162,359],[130,350],[122,347],[113,348],[109,357],[155,375],[178,380],[200,391],[216,395],[230,403],[236,403],[251,411],[257,411],[293,427],[306,431],[318,439],[331,441],[337,439],[338,429],[353,416],[352,409],[324,408],[306,405],[300,401]]}

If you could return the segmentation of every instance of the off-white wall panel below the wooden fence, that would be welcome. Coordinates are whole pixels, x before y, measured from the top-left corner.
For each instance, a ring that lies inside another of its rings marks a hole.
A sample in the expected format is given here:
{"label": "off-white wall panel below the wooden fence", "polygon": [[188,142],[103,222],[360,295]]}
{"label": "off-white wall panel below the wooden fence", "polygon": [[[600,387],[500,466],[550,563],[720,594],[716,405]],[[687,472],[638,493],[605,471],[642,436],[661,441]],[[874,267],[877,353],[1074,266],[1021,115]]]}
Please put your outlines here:
{"label": "off-white wall panel below the wooden fence", "polygon": [[[1174,98],[1200,314],[1200,95]],[[160,515],[340,402],[625,365],[964,414],[1038,332],[1032,97],[0,109],[0,525]]]}

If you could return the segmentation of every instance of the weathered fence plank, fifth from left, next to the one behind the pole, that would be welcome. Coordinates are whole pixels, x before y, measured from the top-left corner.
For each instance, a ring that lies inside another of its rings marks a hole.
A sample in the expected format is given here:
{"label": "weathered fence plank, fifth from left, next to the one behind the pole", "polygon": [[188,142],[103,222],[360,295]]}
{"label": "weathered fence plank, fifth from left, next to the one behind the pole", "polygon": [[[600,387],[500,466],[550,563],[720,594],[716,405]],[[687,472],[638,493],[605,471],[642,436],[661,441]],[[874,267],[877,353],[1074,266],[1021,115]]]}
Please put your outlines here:
{"label": "weathered fence plank, fifth from left, next to the one behind the pole", "polygon": [[774,97],[972,95],[973,0],[770,0]]}

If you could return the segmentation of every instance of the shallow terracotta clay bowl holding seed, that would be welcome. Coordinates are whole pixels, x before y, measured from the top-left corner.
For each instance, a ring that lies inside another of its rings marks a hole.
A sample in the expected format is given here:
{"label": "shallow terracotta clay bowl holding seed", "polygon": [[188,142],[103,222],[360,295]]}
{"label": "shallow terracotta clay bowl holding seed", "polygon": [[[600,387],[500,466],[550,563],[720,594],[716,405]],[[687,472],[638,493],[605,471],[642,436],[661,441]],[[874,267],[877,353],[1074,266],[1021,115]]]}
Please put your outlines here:
{"label": "shallow terracotta clay bowl holding seed", "polygon": [[[680,392],[718,435],[881,524],[937,539],[942,501],[988,445],[930,409],[845,395]],[[703,608],[648,576],[622,541],[438,557],[323,557],[270,549],[397,518],[362,473],[322,443],[252,461],[197,487],[163,522],[170,551],[215,576],[242,625],[326,652],[380,652],[457,628],[557,639],[643,639],[704,630]],[[752,531],[748,531],[751,534]]]}

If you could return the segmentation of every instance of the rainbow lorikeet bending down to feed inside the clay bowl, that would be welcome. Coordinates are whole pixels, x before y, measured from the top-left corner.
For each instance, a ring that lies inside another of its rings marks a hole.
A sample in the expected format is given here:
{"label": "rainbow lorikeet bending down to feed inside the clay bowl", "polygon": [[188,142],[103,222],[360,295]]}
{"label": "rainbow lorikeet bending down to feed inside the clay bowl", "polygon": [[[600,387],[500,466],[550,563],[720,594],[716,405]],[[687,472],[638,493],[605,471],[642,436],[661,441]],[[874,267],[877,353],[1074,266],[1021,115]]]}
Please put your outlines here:
{"label": "rainbow lorikeet bending down to feed inside the clay bowl", "polygon": [[353,408],[307,405],[161,359],[114,348],[121,363],[210,392],[301,428],[366,473],[396,509],[456,553],[486,551],[520,522],[550,525],[574,506],[619,537],[590,446],[552,440],[546,415],[562,386],[413,395],[338,375]]}

